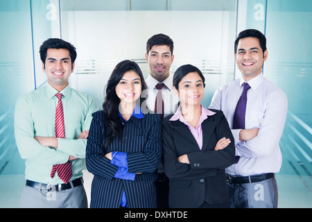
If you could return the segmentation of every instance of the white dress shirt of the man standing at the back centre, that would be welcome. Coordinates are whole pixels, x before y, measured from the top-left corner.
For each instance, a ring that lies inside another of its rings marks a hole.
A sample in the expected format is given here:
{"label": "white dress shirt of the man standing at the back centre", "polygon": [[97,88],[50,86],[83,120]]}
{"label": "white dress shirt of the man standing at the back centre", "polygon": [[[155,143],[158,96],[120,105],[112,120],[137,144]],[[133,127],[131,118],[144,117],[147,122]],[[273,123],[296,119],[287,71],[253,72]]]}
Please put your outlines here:
{"label": "white dress shirt of the man standing at the back centre", "polygon": [[[158,89],[156,89],[156,85],[159,83],[155,78],[148,75],[146,79],[146,84],[148,85],[148,90],[142,92],[142,96],[146,96],[146,106],[148,110],[154,112],[155,111],[155,100],[157,96]],[[169,76],[162,83],[164,83],[164,87],[162,88],[162,99],[164,101],[164,117],[169,114],[175,113],[178,107],[179,98],[175,96],[173,92],[173,83],[172,78]],[[142,110],[142,112],[144,112]]]}

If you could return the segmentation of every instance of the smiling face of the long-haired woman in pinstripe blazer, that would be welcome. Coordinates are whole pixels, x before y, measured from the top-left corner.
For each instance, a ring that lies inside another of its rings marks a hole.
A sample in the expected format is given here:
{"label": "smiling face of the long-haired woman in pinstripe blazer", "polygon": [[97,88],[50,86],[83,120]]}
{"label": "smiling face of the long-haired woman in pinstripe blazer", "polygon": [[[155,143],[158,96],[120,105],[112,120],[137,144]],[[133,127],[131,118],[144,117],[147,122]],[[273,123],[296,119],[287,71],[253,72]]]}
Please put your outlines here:
{"label": "smiling face of the long-haired woman in pinstripe blazer", "polygon": [[141,95],[141,78],[135,71],[126,71],[115,88],[121,103],[135,103]]}

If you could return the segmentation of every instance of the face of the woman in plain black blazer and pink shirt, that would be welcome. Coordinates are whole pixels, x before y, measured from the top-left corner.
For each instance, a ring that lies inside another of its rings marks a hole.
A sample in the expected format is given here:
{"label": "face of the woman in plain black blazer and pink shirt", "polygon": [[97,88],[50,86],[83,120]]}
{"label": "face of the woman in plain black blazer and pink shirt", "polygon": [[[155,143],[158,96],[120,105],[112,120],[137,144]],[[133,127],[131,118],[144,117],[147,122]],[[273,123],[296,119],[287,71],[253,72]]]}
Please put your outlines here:
{"label": "face of the woman in plain black blazer and pink shirt", "polygon": [[184,107],[200,105],[204,96],[204,83],[197,72],[190,72],[179,83],[179,89],[175,93],[180,97],[180,103]]}

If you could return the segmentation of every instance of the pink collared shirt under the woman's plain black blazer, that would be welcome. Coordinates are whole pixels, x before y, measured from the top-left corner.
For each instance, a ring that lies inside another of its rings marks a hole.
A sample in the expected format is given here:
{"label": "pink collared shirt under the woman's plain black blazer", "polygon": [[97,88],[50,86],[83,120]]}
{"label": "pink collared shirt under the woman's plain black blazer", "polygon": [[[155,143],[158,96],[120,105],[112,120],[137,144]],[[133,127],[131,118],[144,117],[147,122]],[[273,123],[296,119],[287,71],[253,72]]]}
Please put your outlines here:
{"label": "pink collared shirt under the woman's plain black blazer", "polygon": [[212,112],[210,110],[203,108],[202,105],[201,105],[201,108],[202,108],[202,114],[200,114],[200,119],[198,121],[196,128],[193,128],[193,126],[191,126],[191,124],[187,120],[185,120],[184,117],[182,116],[181,105],[179,106],[179,108],[177,108],[177,112],[175,112],[175,114],[173,114],[171,119],[169,119],[170,121],[180,120],[182,123],[187,125],[193,137],[195,138],[200,150],[202,149],[202,122],[205,119],[207,119],[207,116],[212,116],[216,114],[216,112]]}

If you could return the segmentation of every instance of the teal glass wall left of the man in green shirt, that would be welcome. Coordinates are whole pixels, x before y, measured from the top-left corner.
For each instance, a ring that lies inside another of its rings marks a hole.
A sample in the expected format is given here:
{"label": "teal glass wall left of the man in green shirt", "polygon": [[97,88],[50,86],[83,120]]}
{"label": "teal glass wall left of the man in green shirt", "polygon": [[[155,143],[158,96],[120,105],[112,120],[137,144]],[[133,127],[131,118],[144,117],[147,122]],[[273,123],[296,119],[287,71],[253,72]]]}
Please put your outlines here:
{"label": "teal glass wall left of the man in green shirt", "polygon": [[24,173],[14,137],[15,102],[46,83],[39,48],[47,38],[60,37],[58,2],[0,0],[0,174]]}

